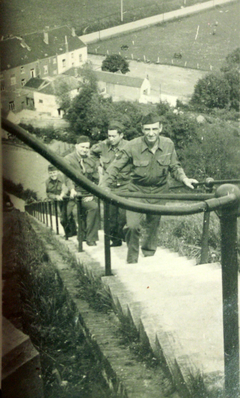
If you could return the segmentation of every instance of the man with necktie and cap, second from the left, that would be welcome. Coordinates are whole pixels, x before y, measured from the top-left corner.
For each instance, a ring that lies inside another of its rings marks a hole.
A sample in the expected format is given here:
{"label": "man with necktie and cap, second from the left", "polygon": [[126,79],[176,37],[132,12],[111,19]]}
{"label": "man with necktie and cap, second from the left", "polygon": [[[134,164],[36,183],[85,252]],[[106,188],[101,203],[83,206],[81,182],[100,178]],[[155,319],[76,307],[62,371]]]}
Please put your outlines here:
{"label": "man with necktie and cap, second from the left", "polygon": [[[97,163],[94,159],[89,157],[89,152],[90,139],[85,135],[81,135],[77,138],[75,151],[66,155],[64,159],[70,166],[83,174],[90,181],[98,183],[99,176]],[[80,185],[75,184],[68,177],[66,177],[66,185],[70,191],[70,200],[67,204],[67,216],[70,216],[73,209],[76,209],[75,198],[77,195],[86,195],[88,192]],[[94,197],[84,197],[82,199],[82,207],[86,211],[86,242],[89,246],[96,246],[96,241],[99,240],[98,227],[100,218],[98,204],[94,200]]]}

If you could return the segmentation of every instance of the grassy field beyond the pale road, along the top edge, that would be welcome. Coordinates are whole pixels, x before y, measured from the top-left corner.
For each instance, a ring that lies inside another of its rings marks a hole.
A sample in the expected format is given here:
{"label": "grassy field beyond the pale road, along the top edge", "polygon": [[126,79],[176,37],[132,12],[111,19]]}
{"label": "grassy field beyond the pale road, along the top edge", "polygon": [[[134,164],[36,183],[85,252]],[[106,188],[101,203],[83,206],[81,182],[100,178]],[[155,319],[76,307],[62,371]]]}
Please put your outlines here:
{"label": "grassy field beyond the pale road, along the top edge", "polygon": [[[186,0],[186,5],[206,0]],[[180,8],[184,0],[122,0],[123,22]],[[139,14],[140,10],[140,14]],[[130,15],[131,14],[131,15]],[[1,0],[0,33],[25,34],[45,26],[89,26],[101,18],[114,17],[120,23],[120,0]],[[114,25],[113,25],[114,26]]]}

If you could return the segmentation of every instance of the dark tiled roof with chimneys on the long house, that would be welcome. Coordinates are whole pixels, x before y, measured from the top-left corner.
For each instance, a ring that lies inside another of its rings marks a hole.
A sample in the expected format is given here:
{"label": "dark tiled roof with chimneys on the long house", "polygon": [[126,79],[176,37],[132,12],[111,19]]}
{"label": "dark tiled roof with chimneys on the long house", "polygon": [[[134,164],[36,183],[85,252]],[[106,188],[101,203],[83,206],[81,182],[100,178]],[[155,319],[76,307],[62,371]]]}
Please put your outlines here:
{"label": "dark tiled roof with chimneys on the long house", "polygon": [[62,26],[47,31],[48,44],[44,33],[37,32],[21,37],[12,37],[0,41],[1,71],[26,65],[37,60],[53,57],[66,52],[65,36],[68,41],[68,51],[85,47],[78,36],[72,36],[68,26]]}

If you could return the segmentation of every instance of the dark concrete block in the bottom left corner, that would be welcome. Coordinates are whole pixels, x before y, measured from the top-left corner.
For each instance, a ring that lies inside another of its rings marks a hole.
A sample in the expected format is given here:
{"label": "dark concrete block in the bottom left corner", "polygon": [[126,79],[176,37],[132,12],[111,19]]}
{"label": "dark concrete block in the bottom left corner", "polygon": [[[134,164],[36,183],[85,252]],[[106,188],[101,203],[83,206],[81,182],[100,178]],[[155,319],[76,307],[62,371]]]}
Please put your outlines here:
{"label": "dark concrete block in the bottom left corner", "polygon": [[2,317],[2,374],[4,398],[44,398],[40,357],[29,337]]}

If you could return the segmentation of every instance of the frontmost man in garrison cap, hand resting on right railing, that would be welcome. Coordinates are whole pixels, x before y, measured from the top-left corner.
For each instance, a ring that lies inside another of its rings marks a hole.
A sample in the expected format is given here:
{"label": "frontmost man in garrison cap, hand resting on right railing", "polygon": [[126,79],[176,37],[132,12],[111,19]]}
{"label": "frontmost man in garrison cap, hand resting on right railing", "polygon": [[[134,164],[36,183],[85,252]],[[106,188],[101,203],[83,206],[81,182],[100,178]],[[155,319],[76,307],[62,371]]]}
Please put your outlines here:
{"label": "frontmost man in garrison cap, hand resting on right railing", "polygon": [[[177,159],[174,144],[170,138],[160,135],[162,123],[160,116],[150,112],[142,117],[142,137],[128,141],[121,149],[116,160],[106,170],[101,187],[110,187],[122,168],[132,165],[131,180],[128,184],[129,192],[139,194],[165,194],[168,192],[168,173],[193,189],[196,180],[185,175]],[[144,203],[161,203],[159,199],[136,199]],[[127,263],[137,263],[139,255],[139,238],[141,220],[144,214],[126,211],[125,240],[128,246]],[[146,215],[146,234],[141,244],[144,257],[153,256],[157,248],[158,226],[160,216]]]}

